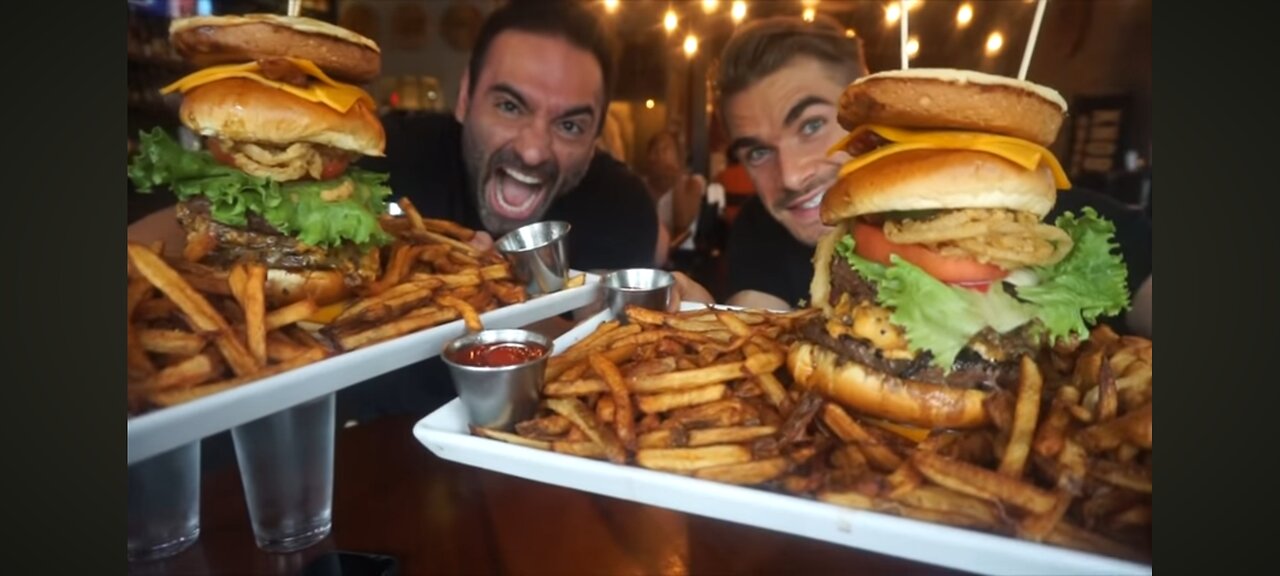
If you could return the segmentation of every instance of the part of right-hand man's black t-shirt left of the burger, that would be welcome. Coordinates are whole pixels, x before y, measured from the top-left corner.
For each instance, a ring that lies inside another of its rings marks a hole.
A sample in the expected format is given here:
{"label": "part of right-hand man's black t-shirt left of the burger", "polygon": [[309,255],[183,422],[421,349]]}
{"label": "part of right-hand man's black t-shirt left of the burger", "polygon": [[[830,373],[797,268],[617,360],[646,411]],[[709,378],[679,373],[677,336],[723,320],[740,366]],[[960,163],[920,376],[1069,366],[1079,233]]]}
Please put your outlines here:
{"label": "part of right-hand man's black t-shirt left of the burger", "polygon": [[742,205],[728,232],[728,293],[759,291],[799,306],[809,300],[813,246],[795,239],[759,196]]}

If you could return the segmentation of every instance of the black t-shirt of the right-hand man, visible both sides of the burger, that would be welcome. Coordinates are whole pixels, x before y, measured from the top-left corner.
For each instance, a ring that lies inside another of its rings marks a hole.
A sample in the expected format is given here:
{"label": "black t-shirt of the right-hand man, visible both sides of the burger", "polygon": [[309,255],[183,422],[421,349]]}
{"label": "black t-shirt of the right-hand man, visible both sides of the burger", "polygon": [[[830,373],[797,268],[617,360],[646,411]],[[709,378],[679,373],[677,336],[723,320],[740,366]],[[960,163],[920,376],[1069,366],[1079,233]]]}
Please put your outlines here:
{"label": "black t-shirt of the right-hand man, visible both sides of the burger", "polygon": [[[1053,223],[1064,212],[1082,214],[1092,206],[1100,216],[1115,224],[1115,239],[1129,271],[1129,293],[1138,292],[1151,275],[1152,224],[1140,210],[1130,209],[1111,196],[1087,188],[1062,191],[1044,221]],[[792,306],[809,298],[813,280],[813,247],[795,239],[764,209],[758,196],[751,197],[730,229],[728,284],[730,294],[754,289],[777,296]],[[1128,332],[1123,319],[1110,319],[1116,330]]]}

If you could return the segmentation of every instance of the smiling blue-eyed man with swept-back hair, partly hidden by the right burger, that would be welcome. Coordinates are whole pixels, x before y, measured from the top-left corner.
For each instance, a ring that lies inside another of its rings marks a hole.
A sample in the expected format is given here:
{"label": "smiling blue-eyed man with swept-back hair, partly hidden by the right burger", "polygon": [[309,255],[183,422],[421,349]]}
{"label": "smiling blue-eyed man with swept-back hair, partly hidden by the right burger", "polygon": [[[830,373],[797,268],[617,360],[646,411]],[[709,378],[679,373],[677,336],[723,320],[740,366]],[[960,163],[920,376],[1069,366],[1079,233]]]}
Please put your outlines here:
{"label": "smiling blue-eyed man with swept-back hair, partly hidden by the right burger", "polygon": [[728,154],[756,189],[730,230],[727,303],[790,308],[809,296],[813,248],[827,232],[818,205],[849,160],[827,156],[846,133],[840,95],[864,74],[859,41],[820,18],[756,20],[724,46],[717,88]]}

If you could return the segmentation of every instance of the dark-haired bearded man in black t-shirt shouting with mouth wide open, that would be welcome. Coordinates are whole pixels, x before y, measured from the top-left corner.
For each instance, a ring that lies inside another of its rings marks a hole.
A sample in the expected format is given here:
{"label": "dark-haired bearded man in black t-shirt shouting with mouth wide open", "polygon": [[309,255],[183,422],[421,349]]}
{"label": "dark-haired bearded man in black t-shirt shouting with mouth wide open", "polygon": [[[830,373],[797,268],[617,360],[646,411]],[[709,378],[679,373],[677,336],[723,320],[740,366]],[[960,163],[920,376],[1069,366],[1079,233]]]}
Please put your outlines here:
{"label": "dark-haired bearded man in black t-shirt shouting with mouth wide open", "polygon": [[492,241],[566,220],[579,270],[654,265],[658,216],[640,178],[595,154],[614,74],[611,40],[581,3],[513,1],[485,20],[453,114],[385,119],[397,196]]}

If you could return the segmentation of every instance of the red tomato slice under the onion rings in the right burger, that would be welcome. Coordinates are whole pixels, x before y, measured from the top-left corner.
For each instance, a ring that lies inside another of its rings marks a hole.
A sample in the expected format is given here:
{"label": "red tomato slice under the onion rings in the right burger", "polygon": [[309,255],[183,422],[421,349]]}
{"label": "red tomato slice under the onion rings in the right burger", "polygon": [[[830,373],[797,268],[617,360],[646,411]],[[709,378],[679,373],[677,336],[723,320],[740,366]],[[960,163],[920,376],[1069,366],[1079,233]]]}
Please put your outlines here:
{"label": "red tomato slice under the onion rings in the right burger", "polygon": [[859,256],[890,264],[891,255],[899,255],[902,260],[920,266],[925,274],[938,280],[951,284],[964,284],[968,288],[986,292],[979,285],[989,285],[991,282],[1004,279],[1009,271],[991,264],[982,264],[973,259],[959,259],[942,256],[920,244],[896,244],[884,237],[884,229],[877,225],[854,224],[854,248]]}

